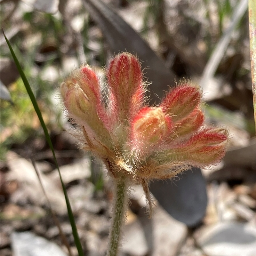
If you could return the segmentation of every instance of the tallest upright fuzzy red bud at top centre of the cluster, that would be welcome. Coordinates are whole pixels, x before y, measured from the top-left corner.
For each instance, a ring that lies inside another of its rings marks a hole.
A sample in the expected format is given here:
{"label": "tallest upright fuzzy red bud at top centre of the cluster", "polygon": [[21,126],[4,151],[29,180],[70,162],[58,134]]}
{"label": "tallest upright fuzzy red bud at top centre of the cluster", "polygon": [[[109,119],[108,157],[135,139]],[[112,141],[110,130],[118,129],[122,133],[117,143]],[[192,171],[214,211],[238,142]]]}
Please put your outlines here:
{"label": "tallest upright fuzzy red bud at top centre of the cluster", "polygon": [[142,107],[145,97],[138,59],[129,53],[118,54],[110,61],[106,76],[112,115],[121,122],[132,118]]}

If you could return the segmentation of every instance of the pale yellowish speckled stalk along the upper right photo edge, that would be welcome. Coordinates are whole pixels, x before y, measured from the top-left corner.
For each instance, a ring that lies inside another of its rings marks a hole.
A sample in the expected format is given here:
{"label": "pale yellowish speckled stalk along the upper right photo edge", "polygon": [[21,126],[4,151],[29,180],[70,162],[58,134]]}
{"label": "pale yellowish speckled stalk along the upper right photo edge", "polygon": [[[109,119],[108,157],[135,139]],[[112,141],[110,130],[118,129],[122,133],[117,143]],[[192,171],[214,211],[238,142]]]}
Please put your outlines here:
{"label": "pale yellowish speckled stalk along the upper right photo edge", "polygon": [[252,67],[252,95],[256,130],[256,0],[249,0],[250,55]]}

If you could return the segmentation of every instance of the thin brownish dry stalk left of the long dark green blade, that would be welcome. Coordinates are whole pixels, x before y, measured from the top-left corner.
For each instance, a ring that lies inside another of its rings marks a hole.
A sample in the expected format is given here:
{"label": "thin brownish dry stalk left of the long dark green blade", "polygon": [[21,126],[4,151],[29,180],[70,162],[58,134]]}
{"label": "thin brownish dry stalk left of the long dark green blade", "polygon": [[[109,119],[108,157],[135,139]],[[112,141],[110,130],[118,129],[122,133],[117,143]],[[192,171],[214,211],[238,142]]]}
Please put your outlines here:
{"label": "thin brownish dry stalk left of the long dark green blade", "polygon": [[48,206],[49,206],[50,212],[52,213],[53,221],[54,221],[55,225],[56,225],[56,226],[58,227],[58,229],[59,229],[60,238],[61,238],[61,240],[62,240],[62,243],[65,244],[65,246],[67,247],[69,256],[73,256],[73,253],[71,252],[71,249],[70,249],[70,244],[68,243],[68,239],[67,239],[67,237],[65,236],[65,234],[64,234],[63,231],[62,231],[62,228],[61,228],[61,226],[60,226],[60,221],[58,220],[58,218],[57,218],[55,212],[53,211],[52,206],[51,206],[51,202],[50,202],[50,200],[49,200],[49,198],[48,198],[48,196],[47,196],[47,194],[46,194],[46,192],[45,192],[44,185],[43,185],[43,182],[42,182],[42,179],[41,179],[39,170],[38,170],[37,167],[36,167],[35,160],[33,159],[33,157],[30,157],[30,160],[31,160],[31,163],[32,163],[32,165],[33,165],[33,167],[34,167],[34,169],[35,169],[36,176],[37,176],[37,178],[38,178],[38,180],[39,180],[39,183],[40,183],[40,186],[41,186],[41,188],[42,188],[42,190],[43,190],[43,193],[44,193],[44,196],[45,196],[45,198],[46,198],[46,202],[47,202],[47,204],[48,204]]}

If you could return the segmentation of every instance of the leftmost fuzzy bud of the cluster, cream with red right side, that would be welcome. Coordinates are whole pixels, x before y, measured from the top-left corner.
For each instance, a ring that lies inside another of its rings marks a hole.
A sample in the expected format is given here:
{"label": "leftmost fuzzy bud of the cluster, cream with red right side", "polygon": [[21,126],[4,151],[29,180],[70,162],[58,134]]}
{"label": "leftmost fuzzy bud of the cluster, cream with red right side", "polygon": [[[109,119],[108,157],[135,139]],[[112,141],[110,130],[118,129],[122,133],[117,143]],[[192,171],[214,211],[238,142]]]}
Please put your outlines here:
{"label": "leftmost fuzzy bud of the cluster, cream with red right side", "polygon": [[60,93],[69,116],[94,133],[92,136],[109,142],[110,122],[95,72],[89,66],[75,70],[61,84]]}

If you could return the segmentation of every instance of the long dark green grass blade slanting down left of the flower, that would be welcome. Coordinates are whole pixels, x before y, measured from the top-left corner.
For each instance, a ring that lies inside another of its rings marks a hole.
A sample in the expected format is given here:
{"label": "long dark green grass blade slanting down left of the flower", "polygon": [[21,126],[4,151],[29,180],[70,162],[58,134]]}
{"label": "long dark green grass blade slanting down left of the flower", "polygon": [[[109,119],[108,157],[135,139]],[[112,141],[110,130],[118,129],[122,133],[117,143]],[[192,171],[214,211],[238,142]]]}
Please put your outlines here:
{"label": "long dark green grass blade slanting down left of the flower", "polygon": [[[4,31],[3,31],[3,34],[4,34]],[[73,215],[73,212],[72,212],[72,209],[71,209],[71,205],[70,205],[70,202],[69,202],[69,199],[68,199],[68,193],[67,193],[67,190],[65,188],[64,182],[63,182],[62,177],[61,177],[60,168],[59,168],[56,156],[55,156],[55,152],[54,152],[54,149],[53,149],[53,145],[52,145],[52,141],[51,141],[50,135],[49,135],[48,130],[46,128],[46,125],[44,123],[44,119],[42,117],[41,111],[40,111],[40,109],[38,107],[38,104],[36,102],[36,98],[34,96],[34,93],[32,92],[32,89],[31,89],[31,87],[30,87],[30,85],[28,83],[28,79],[25,76],[25,74],[24,74],[24,72],[23,72],[23,70],[22,70],[22,68],[20,66],[20,62],[17,59],[17,57],[16,57],[16,55],[15,55],[13,49],[12,49],[12,46],[11,46],[9,40],[7,39],[7,37],[5,36],[5,34],[4,34],[4,38],[5,38],[6,43],[8,44],[8,47],[9,47],[11,53],[12,53],[12,58],[13,58],[15,64],[16,64],[16,66],[17,66],[17,69],[18,69],[18,71],[20,73],[21,79],[22,79],[22,81],[23,81],[23,83],[24,83],[24,85],[26,87],[27,92],[28,92],[29,98],[32,101],[32,104],[34,106],[36,114],[37,114],[37,116],[39,118],[39,121],[40,121],[40,123],[42,125],[46,141],[48,142],[49,147],[52,150],[52,155],[53,155],[53,158],[54,158],[54,162],[55,162],[55,165],[56,165],[56,167],[58,169],[58,172],[59,172],[59,175],[60,175],[60,182],[61,182],[61,185],[62,185],[62,188],[63,188],[63,192],[64,192],[64,196],[65,196],[65,200],[66,200],[66,204],[67,204],[67,208],[68,208],[68,217],[69,217],[69,221],[70,221],[70,224],[71,224],[71,227],[72,227],[72,232],[73,232],[76,248],[77,248],[77,251],[78,251],[78,255],[79,256],[84,256],[83,248],[82,248],[82,245],[81,245],[78,233],[77,233],[75,218],[74,218],[74,215]]]}

